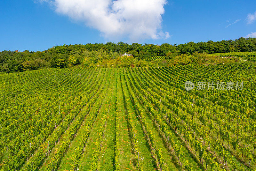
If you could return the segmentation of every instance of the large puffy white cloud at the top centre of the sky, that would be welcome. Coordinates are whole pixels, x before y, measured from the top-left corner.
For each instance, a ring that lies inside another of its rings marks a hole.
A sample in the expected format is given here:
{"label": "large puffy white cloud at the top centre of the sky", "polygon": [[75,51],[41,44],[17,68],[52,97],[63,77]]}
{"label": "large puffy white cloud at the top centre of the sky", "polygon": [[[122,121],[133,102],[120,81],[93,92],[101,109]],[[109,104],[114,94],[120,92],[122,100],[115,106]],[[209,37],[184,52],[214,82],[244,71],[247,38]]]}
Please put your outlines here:
{"label": "large puffy white cloud at the top centre of the sky", "polygon": [[161,30],[166,0],[39,0],[55,7],[57,13],[82,21],[99,30],[105,38],[130,40],[167,39]]}

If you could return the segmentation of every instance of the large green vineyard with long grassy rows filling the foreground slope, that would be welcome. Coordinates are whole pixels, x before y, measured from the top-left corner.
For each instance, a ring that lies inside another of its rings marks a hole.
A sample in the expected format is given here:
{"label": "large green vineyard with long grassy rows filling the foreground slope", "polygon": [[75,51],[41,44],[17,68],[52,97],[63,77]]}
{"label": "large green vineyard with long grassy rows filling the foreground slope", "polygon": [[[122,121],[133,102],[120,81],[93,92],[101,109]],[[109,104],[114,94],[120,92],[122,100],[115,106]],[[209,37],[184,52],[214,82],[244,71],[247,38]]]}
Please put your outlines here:
{"label": "large green vineyard with long grassy rows filling the foreground slope", "polygon": [[252,62],[50,68],[0,84],[1,171],[256,169]]}

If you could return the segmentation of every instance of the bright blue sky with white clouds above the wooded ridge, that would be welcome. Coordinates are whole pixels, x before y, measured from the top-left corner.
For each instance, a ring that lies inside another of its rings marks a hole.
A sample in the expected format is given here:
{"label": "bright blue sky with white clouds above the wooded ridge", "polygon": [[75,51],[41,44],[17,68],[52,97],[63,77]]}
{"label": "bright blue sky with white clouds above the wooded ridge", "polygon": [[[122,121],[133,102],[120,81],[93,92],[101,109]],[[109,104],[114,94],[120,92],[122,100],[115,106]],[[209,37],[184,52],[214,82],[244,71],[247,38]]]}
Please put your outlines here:
{"label": "bright blue sky with white clouds above the wooded ridge", "polygon": [[[255,0],[167,3],[164,0],[151,0],[153,5],[134,4],[134,0],[117,0],[110,8],[116,11],[111,14],[103,12],[102,15],[90,11],[95,4],[91,3],[88,7],[82,0],[75,1],[76,4],[68,4],[68,0],[1,1],[0,51],[37,51],[63,44],[108,41],[161,45],[234,40],[250,33],[256,36]],[[103,2],[99,9],[106,9],[109,5],[105,3],[109,0],[98,1]],[[74,9],[74,6],[78,9]],[[124,11],[118,13],[119,8]],[[154,11],[153,14],[151,11]],[[143,16],[144,13],[147,14]],[[248,14],[251,14],[250,22]],[[105,18],[102,17],[104,15]],[[106,20],[108,22],[104,24]]]}

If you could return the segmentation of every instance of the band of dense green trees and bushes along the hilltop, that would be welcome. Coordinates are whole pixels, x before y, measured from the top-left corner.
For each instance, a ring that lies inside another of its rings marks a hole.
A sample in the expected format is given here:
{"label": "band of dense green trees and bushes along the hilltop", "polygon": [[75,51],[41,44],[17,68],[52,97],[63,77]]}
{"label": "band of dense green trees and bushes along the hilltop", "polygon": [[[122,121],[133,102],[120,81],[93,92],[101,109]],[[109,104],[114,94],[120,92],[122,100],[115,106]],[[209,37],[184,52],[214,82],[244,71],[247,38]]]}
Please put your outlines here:
{"label": "band of dense green trees and bushes along the hilltop", "polygon": [[[160,46],[138,43],[129,45],[123,42],[63,45],[42,52],[2,51],[0,52],[0,71],[10,73],[39,68],[65,68],[79,64],[102,67],[154,66],[145,61],[162,59],[163,56],[166,56],[168,60],[174,56],[181,54],[189,56],[195,52],[213,54],[250,51],[256,51],[256,38],[239,38],[235,41],[188,42],[179,45],[164,43]],[[119,55],[124,53],[132,54],[134,58],[119,58]]]}

